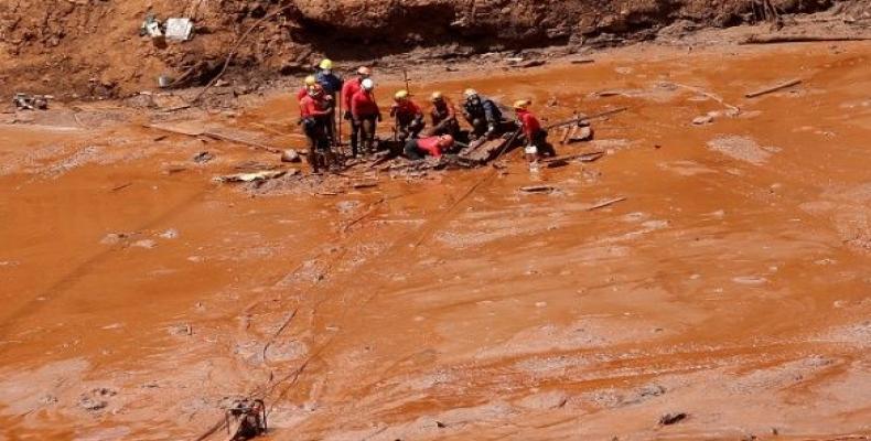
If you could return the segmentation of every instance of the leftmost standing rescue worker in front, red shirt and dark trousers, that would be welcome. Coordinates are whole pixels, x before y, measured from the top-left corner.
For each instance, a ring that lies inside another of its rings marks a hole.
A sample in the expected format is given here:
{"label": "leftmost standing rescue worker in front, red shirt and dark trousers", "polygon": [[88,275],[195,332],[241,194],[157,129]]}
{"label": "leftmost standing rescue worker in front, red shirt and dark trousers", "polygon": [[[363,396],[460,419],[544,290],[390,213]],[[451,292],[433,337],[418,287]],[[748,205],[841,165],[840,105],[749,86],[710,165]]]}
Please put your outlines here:
{"label": "leftmost standing rescue worker in front, red shirt and dark trousers", "polygon": [[309,164],[314,173],[321,168],[321,160],[324,164],[333,163],[333,154],[330,150],[330,138],[326,126],[333,116],[333,106],[327,101],[330,96],[324,94],[321,85],[309,88],[309,93],[300,100],[300,111],[302,112],[302,130],[309,138]]}

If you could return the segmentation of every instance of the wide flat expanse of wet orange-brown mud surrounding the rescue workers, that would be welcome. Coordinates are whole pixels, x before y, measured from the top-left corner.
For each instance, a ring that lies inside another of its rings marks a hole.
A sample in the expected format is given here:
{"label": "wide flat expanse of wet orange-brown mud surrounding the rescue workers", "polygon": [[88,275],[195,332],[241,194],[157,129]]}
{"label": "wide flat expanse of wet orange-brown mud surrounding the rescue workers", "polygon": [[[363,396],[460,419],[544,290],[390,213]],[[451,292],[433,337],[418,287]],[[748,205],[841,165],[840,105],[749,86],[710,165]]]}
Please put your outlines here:
{"label": "wide flat expanse of wet orange-brown mud surrounding the rescue workers", "polygon": [[[275,157],[4,127],[0,439],[196,439],[249,394],[277,440],[868,433],[869,58],[644,49],[416,82],[530,97],[551,121],[630,109],[558,146],[593,163],[509,155],[374,189],[246,192],[211,179]],[[201,122],[300,143],[293,111]]]}

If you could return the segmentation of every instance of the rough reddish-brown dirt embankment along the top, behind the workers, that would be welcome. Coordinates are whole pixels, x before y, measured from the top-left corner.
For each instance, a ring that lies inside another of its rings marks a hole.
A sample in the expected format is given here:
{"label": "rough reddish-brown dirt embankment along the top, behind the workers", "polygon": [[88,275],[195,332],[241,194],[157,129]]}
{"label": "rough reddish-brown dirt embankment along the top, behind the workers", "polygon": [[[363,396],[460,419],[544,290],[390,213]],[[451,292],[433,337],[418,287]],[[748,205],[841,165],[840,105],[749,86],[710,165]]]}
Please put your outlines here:
{"label": "rough reddish-brown dirt embankment along the top, behind the workers", "polygon": [[[808,12],[832,0],[772,3],[785,13]],[[299,73],[323,54],[370,60],[418,49],[433,57],[577,49],[609,35],[652,35],[676,20],[729,25],[756,20],[759,12],[748,0],[14,0],[0,3],[0,89],[76,98],[151,89],[160,75],[202,84],[257,23],[239,45],[230,77]],[[139,36],[149,13],[193,18],[196,35],[158,49]]]}

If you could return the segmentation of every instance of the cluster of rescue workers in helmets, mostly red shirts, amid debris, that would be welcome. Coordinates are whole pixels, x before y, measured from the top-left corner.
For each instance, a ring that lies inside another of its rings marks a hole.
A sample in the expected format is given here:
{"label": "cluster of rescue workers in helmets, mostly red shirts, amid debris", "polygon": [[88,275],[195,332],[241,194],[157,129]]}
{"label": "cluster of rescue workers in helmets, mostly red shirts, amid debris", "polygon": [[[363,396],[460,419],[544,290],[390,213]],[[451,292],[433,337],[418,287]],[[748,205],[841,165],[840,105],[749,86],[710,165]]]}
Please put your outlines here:
{"label": "cluster of rescue workers in helmets, mostly red shirts, amid debris", "polygon": [[[504,133],[520,130],[519,139],[526,143],[526,152],[533,155],[555,155],[547,143],[547,131],[538,118],[529,111],[529,100],[514,103],[516,120],[505,118],[499,106],[474,89],[463,94],[462,115],[471,130],[461,130],[453,103],[441,92],[430,95],[429,111],[431,128],[421,107],[411,99],[407,89],[394,94],[390,117],[394,118],[394,140],[404,146],[402,153],[411,160],[424,157],[441,157],[455,152],[463,141],[495,139]],[[336,164],[333,148],[340,144],[336,111],[351,127],[351,154],[359,157],[374,153],[375,131],[383,120],[375,99],[375,82],[372,69],[362,66],[356,76],[343,80],[333,73],[333,62],[323,60],[314,75],[305,77],[297,93],[300,105],[299,123],[309,139],[309,163],[318,173],[321,169]],[[341,100],[341,101],[340,101]]]}

